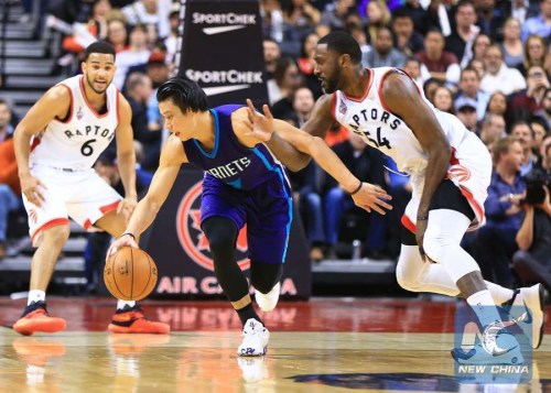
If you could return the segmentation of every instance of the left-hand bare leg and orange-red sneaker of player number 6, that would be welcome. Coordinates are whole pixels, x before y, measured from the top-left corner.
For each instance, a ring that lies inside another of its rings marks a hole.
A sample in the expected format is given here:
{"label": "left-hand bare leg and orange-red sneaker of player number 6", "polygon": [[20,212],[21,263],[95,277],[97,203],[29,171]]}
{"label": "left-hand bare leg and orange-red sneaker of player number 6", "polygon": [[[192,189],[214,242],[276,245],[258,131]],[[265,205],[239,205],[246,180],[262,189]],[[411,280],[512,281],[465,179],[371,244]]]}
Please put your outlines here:
{"label": "left-hand bare leg and orange-red sneaker of player number 6", "polygon": [[[30,288],[45,293],[57,258],[68,239],[69,227],[57,225],[44,229],[40,236],[41,241],[31,264]],[[13,330],[20,335],[30,336],[36,331],[56,332],[64,330],[65,327],[65,319],[50,316],[44,301],[33,302],[30,299],[21,318],[13,325]]]}

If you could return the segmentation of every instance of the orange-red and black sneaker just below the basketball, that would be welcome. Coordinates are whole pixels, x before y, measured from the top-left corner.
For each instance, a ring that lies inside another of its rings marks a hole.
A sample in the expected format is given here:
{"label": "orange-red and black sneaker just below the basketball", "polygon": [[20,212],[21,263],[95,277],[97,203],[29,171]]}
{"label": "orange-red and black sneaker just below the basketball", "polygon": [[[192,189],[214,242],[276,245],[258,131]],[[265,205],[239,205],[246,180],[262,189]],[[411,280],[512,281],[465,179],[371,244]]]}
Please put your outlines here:
{"label": "orange-red and black sneaker just below the basketball", "polygon": [[140,306],[125,306],[123,309],[118,309],[112,316],[112,320],[107,327],[110,332],[141,332],[166,335],[171,328],[169,324],[149,320],[143,315]]}

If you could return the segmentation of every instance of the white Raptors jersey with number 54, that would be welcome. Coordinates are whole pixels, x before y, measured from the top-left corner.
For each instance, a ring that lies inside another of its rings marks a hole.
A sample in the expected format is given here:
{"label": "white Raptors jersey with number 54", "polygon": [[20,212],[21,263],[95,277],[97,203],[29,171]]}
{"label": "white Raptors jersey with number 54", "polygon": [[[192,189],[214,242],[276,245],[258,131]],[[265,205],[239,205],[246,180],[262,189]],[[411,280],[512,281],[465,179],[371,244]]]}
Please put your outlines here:
{"label": "white Raptors jersey with number 54", "polygon": [[[368,69],[369,81],[361,98],[348,97],[337,90],[333,95],[333,116],[341,124],[360,135],[367,144],[392,157],[400,171],[409,174],[420,173],[426,167],[428,154],[423,152],[409,125],[386,110],[380,98],[385,76],[396,69]],[[433,110],[452,148],[456,149],[469,131],[453,114],[434,108],[422,91],[420,95]]]}

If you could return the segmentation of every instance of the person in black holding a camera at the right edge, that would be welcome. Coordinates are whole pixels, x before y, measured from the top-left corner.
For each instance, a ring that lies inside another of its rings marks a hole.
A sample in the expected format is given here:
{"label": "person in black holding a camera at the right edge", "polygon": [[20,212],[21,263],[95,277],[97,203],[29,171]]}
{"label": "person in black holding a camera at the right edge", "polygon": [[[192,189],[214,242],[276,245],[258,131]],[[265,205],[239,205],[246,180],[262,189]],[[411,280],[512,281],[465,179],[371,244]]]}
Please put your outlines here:
{"label": "person in black holding a camera at the right edge", "polygon": [[516,237],[512,269],[522,285],[542,283],[551,291],[551,143],[544,163],[547,173],[536,170],[527,176],[526,214]]}

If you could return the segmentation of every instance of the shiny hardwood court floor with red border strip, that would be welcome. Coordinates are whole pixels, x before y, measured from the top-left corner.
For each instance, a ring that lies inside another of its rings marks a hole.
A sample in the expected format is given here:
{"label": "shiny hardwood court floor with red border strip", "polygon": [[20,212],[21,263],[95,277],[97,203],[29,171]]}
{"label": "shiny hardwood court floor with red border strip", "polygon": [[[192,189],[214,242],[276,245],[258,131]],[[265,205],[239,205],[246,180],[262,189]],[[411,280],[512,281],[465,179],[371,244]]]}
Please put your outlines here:
{"label": "shiny hardwood court floor with red border strip", "polygon": [[[23,304],[0,298],[0,323],[12,324]],[[549,337],[529,384],[460,383],[450,356],[454,302],[282,302],[263,315],[271,338],[259,359],[236,357],[239,321],[226,302],[144,302],[150,318],[171,324],[168,336],[106,332],[114,304],[48,298],[66,331],[1,328],[0,392],[551,392]]]}

